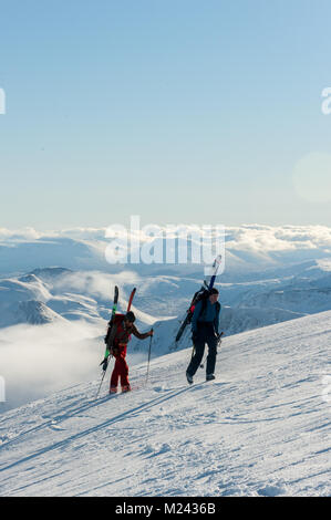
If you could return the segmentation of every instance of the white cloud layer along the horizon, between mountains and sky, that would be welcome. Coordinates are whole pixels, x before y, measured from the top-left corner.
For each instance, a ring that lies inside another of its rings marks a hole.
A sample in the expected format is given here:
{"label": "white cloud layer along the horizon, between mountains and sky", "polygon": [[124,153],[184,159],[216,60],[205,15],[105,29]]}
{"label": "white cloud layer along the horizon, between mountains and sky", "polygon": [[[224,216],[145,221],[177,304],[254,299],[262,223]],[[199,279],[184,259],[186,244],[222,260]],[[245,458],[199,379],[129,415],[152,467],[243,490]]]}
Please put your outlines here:
{"label": "white cloud layer along the horizon, between mountains and sky", "polygon": [[[124,233],[125,230],[123,230]],[[158,227],[158,235],[166,237],[167,227]],[[118,231],[120,232],[120,231]],[[178,226],[173,228],[172,237],[177,233],[194,233],[193,240],[197,240],[197,233],[201,239],[210,238],[210,231],[196,226]],[[131,236],[131,231],[125,233]],[[164,235],[163,235],[164,233]],[[127,238],[127,237],[126,237]],[[121,233],[117,240],[124,240]],[[32,228],[21,230],[8,230],[0,228],[0,273],[20,271],[27,272],[38,267],[65,267],[74,270],[103,270],[121,272],[123,263],[111,264],[106,260],[114,237],[110,236],[105,228],[75,228],[46,233],[38,232]],[[162,240],[162,242],[161,242]],[[190,242],[190,238],[188,240]],[[165,240],[158,236],[148,235],[147,228],[134,231],[134,243],[152,248],[165,247]],[[227,227],[225,229],[225,266],[226,270],[251,270],[260,267],[270,267],[275,263],[304,259],[321,259],[331,253],[331,228],[327,226],[260,226],[247,225],[240,227]],[[168,245],[166,245],[167,247]],[[186,243],[182,243],[186,247]],[[172,247],[180,249],[180,242]],[[177,264],[175,263],[175,267]],[[177,266],[178,269],[180,266]],[[178,272],[188,272],[187,266]],[[126,269],[139,273],[161,272],[174,269],[172,263],[144,264],[130,263]]]}

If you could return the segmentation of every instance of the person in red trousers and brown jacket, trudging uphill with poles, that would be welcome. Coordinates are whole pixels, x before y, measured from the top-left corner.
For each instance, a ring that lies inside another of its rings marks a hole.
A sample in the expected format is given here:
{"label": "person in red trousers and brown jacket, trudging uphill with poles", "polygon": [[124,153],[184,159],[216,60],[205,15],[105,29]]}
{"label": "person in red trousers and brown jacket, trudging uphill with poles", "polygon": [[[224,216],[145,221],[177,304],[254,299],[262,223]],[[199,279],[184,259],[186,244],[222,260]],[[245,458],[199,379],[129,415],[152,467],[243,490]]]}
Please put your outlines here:
{"label": "person in red trousers and brown jacket, trudging uphill with poles", "polygon": [[[118,379],[121,381],[122,392],[130,392],[131,386],[128,382],[128,366],[125,360],[127,343],[131,335],[145,340],[153,335],[153,329],[145,334],[141,334],[134,325],[135,315],[132,311],[126,314],[116,314],[112,324],[112,330],[107,334],[107,343],[110,345],[110,353],[115,357],[115,366],[111,377],[110,393],[117,392]],[[107,362],[105,358],[104,362]]]}

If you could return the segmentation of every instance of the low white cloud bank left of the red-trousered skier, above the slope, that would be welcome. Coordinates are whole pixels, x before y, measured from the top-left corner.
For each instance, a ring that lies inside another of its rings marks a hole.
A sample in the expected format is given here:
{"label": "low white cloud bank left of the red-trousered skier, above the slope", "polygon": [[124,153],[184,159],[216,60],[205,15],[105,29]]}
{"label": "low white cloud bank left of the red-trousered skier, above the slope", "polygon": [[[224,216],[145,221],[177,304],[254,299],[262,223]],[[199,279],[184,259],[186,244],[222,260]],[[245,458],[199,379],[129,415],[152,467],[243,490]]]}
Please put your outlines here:
{"label": "low white cloud bank left of the red-trousered skier, above the slope", "polygon": [[[6,385],[0,413],[85,381],[97,384],[105,350],[103,333],[101,326],[84,321],[0,329],[0,376]],[[131,354],[130,365],[145,357]],[[112,364],[103,393],[111,370]]]}

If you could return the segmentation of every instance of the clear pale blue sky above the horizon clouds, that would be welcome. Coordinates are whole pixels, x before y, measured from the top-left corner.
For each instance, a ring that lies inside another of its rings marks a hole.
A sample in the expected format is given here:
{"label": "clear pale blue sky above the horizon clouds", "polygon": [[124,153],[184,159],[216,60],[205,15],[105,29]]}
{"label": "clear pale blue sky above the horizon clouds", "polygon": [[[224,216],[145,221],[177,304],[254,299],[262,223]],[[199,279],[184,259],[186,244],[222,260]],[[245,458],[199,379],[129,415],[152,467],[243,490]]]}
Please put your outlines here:
{"label": "clear pale blue sky above the horizon clouds", "polygon": [[293,184],[331,153],[329,0],[0,8],[0,227],[331,226]]}

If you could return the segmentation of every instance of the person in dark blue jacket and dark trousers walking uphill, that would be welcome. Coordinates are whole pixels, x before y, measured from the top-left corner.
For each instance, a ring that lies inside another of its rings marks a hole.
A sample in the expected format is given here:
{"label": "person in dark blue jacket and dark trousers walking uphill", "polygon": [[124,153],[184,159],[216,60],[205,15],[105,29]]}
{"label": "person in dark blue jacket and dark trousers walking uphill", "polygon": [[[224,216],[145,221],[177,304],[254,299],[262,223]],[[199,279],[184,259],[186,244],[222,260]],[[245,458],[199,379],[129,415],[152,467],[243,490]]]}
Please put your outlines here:
{"label": "person in dark blue jacket and dark trousers walking uphill", "polygon": [[220,337],[218,332],[220,314],[220,304],[217,301],[218,297],[218,290],[213,288],[209,297],[200,300],[194,310],[192,318],[194,353],[186,371],[186,377],[189,384],[193,383],[193,376],[203,361],[206,343],[208,345],[206,379],[215,379],[214,371],[216,364],[217,343]]}

